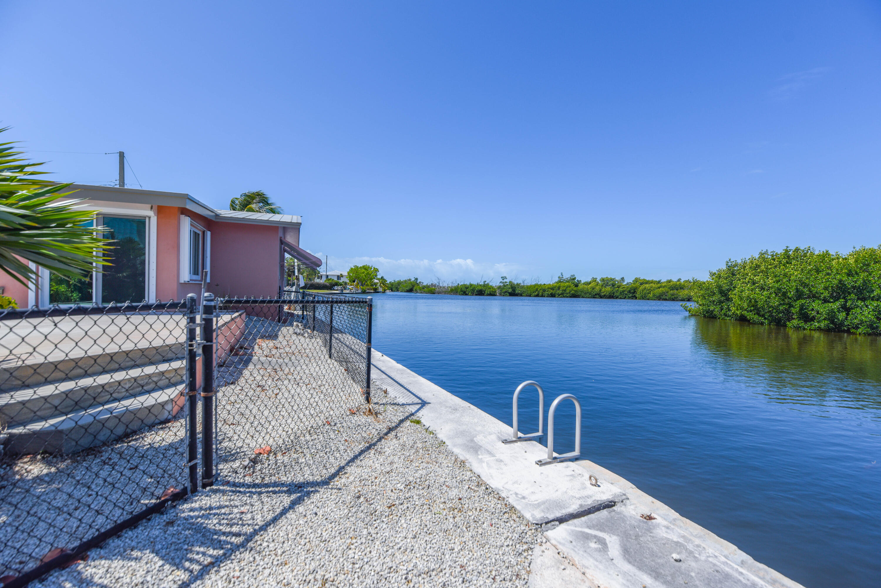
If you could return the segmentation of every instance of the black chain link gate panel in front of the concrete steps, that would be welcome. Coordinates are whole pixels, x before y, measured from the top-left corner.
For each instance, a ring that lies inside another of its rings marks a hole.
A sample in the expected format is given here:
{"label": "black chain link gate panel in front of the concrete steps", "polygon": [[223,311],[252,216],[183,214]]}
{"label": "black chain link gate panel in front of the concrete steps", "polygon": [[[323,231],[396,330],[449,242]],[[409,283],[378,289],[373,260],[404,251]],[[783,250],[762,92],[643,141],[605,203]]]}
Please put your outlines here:
{"label": "black chain link gate panel in front of the concrete steps", "polygon": [[4,586],[187,493],[186,315],[182,302],[0,313]]}

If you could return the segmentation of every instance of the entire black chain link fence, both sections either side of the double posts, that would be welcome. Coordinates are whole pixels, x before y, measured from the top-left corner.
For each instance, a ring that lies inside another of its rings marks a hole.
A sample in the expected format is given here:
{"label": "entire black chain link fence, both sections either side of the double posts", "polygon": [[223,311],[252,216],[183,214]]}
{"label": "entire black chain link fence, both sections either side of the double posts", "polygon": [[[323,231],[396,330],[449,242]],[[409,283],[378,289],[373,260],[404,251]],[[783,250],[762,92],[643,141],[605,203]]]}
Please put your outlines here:
{"label": "entire black chain link fence, both sections either side of the double posts", "polygon": [[218,479],[319,482],[374,438],[370,299],[283,294],[0,313],[4,586]]}

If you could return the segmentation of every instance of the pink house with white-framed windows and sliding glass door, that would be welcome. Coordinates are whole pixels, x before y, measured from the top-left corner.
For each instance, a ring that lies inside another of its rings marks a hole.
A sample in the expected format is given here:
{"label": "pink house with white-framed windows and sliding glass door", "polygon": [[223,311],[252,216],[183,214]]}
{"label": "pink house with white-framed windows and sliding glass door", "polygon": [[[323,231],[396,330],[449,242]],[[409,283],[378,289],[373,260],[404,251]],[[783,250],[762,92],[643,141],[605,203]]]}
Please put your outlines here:
{"label": "pink house with white-framed windows and sliding glass door", "polygon": [[[189,194],[74,185],[73,197],[98,212],[117,241],[112,266],[70,283],[39,269],[23,287],[0,276],[19,308],[56,303],[181,300],[206,290],[218,296],[275,298],[284,285],[285,257],[318,269],[322,261],[300,249],[299,216],[215,210]],[[36,269],[36,268],[35,268]]]}

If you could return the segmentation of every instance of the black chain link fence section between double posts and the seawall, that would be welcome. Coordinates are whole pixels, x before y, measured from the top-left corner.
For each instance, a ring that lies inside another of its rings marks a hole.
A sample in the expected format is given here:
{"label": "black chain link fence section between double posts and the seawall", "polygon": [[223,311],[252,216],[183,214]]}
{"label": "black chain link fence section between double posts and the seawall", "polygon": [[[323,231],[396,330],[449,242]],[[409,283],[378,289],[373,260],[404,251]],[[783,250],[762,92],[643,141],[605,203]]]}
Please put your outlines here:
{"label": "black chain link fence section between double posts and the seawall", "polygon": [[[303,294],[220,301],[241,319],[218,348],[218,469],[230,483],[321,482],[381,429],[370,398],[370,304]],[[229,342],[229,343],[227,343]],[[375,429],[375,430],[374,430]]]}

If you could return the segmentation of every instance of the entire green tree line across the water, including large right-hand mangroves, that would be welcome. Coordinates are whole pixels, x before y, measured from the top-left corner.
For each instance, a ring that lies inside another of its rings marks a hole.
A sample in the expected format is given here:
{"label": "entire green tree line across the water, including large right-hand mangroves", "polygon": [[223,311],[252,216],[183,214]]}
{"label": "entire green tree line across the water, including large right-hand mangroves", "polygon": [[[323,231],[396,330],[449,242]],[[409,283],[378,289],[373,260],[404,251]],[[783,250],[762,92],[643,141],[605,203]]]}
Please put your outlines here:
{"label": "entire green tree line across the water, including large right-hand mangroves", "polygon": [[396,292],[468,296],[542,296],[693,301],[692,316],[776,324],[796,329],[881,335],[881,245],[847,254],[796,247],[729,259],[707,280],[577,279],[562,273],[550,284],[527,284],[502,276],[487,281],[425,284],[418,278],[389,282]]}

